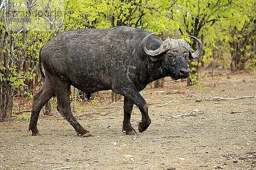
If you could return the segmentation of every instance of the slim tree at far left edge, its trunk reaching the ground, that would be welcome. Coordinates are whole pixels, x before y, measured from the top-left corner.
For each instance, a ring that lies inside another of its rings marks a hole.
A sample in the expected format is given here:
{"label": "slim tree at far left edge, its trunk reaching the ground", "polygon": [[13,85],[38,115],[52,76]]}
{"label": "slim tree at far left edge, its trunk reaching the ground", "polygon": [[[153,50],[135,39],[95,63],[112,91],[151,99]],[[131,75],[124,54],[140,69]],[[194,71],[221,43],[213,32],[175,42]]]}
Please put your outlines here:
{"label": "slim tree at far left edge, its trunk reaching the ground", "polygon": [[[18,44],[23,49],[26,39],[26,28],[24,27],[29,19],[29,12],[22,17],[22,25],[17,26],[17,20],[13,15],[18,11],[12,8],[11,1],[1,1],[0,21],[0,120],[10,121],[13,108],[13,91],[23,83],[24,79],[32,79],[34,74],[20,74],[20,68],[24,62],[24,55],[17,54],[15,46]],[[29,4],[28,4],[29,5]],[[4,12],[5,11],[5,12]],[[20,40],[20,41],[19,41]],[[22,41],[23,40],[23,41]]]}

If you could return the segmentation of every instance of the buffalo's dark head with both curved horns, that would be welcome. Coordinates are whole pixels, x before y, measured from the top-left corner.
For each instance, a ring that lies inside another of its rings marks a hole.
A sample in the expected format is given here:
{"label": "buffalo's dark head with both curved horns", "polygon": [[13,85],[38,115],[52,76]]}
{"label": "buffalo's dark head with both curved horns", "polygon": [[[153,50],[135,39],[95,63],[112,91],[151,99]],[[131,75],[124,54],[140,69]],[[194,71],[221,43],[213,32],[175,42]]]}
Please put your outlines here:
{"label": "buffalo's dark head with both curved horns", "polygon": [[187,66],[186,59],[194,59],[200,56],[203,51],[202,42],[198,38],[189,35],[189,37],[198,42],[198,49],[193,53],[190,45],[185,40],[171,38],[163,41],[156,50],[148,50],[146,48],[146,40],[154,34],[148,34],[142,40],[142,49],[145,54],[148,54],[153,62],[161,60],[164,70],[172,79],[177,80],[189,77],[190,69]]}

